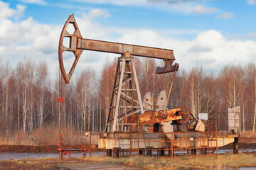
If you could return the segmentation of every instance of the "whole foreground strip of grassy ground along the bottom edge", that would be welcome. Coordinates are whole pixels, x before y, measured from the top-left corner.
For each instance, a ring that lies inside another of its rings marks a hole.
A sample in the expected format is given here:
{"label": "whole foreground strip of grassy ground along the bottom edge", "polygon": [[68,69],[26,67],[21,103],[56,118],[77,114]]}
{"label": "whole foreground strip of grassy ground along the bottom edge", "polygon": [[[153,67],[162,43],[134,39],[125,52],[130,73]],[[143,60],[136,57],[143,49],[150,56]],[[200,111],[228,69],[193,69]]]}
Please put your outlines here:
{"label": "whole foreground strip of grassy ground along the bottom edge", "polygon": [[0,161],[0,169],[239,169],[256,167],[256,154],[221,154],[202,157],[80,157]]}

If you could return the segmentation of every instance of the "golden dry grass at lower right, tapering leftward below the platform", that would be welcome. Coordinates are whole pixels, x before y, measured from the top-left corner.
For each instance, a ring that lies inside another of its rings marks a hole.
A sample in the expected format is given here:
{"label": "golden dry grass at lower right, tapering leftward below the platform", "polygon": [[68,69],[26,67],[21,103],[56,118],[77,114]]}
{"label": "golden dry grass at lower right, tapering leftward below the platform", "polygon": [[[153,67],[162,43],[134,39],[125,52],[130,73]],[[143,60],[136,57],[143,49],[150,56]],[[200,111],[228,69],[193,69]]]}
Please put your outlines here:
{"label": "golden dry grass at lower right, tapering leftward below the platform", "polygon": [[112,162],[137,166],[145,169],[230,169],[240,167],[256,167],[256,157],[253,154],[223,154],[218,157],[87,157],[91,161]]}

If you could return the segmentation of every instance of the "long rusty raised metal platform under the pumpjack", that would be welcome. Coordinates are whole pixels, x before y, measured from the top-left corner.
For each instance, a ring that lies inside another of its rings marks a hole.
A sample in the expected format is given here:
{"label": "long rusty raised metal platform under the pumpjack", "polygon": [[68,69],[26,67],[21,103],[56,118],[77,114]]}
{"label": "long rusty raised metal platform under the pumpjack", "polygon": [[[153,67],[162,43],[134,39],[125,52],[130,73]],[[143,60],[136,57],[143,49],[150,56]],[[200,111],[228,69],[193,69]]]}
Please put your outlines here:
{"label": "long rusty raised metal platform under the pumpjack", "polygon": [[[210,121],[209,121],[210,122]],[[121,149],[130,154],[161,152],[170,157],[218,154],[218,147],[230,143],[238,152],[238,134],[217,131],[217,124],[208,123],[205,132],[113,132],[98,140],[99,149]]]}

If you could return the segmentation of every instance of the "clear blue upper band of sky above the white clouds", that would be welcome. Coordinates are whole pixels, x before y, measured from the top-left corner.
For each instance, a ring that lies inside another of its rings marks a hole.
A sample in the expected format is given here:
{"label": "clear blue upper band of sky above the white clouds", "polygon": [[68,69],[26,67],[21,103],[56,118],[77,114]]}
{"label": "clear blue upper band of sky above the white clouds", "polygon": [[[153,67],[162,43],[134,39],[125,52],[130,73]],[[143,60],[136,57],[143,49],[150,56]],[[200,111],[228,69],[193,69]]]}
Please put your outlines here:
{"label": "clear blue upper band of sky above the white clouds", "polygon": [[[182,1],[182,0],[180,0]],[[246,35],[255,30],[255,1],[246,0],[206,0],[178,3],[145,1],[117,4],[110,1],[47,1],[24,0],[5,1],[11,8],[17,4],[26,6],[21,19],[32,16],[38,23],[62,24],[74,13],[80,17],[93,8],[100,8],[109,14],[107,18],[97,18],[102,26],[125,28],[158,29],[215,29],[225,34]],[[184,8],[182,7],[184,6]],[[201,6],[196,12],[196,6]],[[193,11],[195,10],[195,11]],[[205,10],[205,11],[203,11]],[[225,15],[226,14],[226,15]],[[223,15],[223,16],[221,16]]]}

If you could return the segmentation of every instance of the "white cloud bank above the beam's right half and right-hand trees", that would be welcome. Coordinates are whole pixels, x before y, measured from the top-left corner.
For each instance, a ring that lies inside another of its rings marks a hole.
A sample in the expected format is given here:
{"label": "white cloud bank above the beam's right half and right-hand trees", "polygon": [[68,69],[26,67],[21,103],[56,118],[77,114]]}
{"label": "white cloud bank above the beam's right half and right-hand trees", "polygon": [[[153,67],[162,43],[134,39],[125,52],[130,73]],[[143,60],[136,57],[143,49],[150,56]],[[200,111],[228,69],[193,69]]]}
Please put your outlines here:
{"label": "white cloud bank above the beam's right half and right-hand trees", "polygon": [[134,30],[117,41],[173,49],[176,62],[184,69],[201,64],[208,72],[219,72],[229,63],[256,62],[255,42],[228,40],[217,30],[203,31],[193,40],[165,38],[152,30]]}

